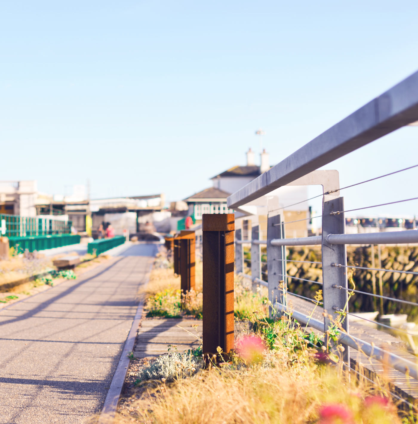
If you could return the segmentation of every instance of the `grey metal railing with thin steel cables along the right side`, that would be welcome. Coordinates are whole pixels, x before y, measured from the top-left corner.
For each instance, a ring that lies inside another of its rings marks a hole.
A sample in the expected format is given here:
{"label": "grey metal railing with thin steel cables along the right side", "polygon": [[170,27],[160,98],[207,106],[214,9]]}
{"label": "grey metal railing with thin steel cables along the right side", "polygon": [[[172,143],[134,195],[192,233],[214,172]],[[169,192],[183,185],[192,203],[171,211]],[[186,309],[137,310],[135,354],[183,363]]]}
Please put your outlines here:
{"label": "grey metal railing with thin steel cables along the right side", "polygon": [[[268,287],[268,296],[278,312],[287,312],[286,293],[287,280],[289,278],[286,271],[286,246],[319,245],[322,251],[322,282],[302,279],[304,284],[322,285],[324,319],[309,319],[306,312],[293,310],[293,317],[299,322],[314,327],[322,332],[327,331],[335,325],[337,320],[341,320],[342,332],[340,342],[353,349],[360,350],[369,356],[380,361],[386,361],[393,368],[411,377],[418,379],[417,365],[397,354],[385,351],[378,346],[373,346],[365,340],[350,335],[347,314],[350,315],[349,293],[363,293],[365,296],[375,298],[390,299],[394,302],[403,302],[418,306],[417,303],[403,299],[382,296],[376,293],[352,290],[347,284],[347,271],[356,266],[347,265],[347,244],[359,245],[381,245],[381,244],[405,244],[418,243],[418,231],[415,229],[394,232],[378,232],[364,234],[345,233],[345,212],[353,212],[360,209],[368,209],[373,206],[384,206],[387,204],[404,204],[417,200],[415,194],[410,198],[390,198],[387,192],[382,190],[381,202],[379,205],[365,205],[361,208],[347,210],[340,192],[348,187],[364,184],[372,180],[387,178],[394,173],[401,173],[406,170],[418,167],[418,165],[395,170],[395,172],[376,176],[367,181],[353,181],[347,187],[339,187],[339,177],[337,171],[318,170],[319,167],[327,165],[339,157],[347,155],[352,151],[373,142],[380,137],[389,134],[403,126],[418,121],[418,73],[415,73],[397,84],[378,98],[367,103],[365,106],[346,117],[335,126],[308,142],[298,151],[294,152],[279,164],[263,173],[254,181],[251,181],[242,189],[233,193],[228,198],[229,208],[238,208],[251,201],[260,199],[271,191],[285,185],[322,185],[322,214],[316,217],[306,218],[322,219],[322,235],[301,238],[285,238],[286,224],[284,217],[284,207],[279,207],[277,197],[271,196],[267,199],[267,240],[259,240],[258,227],[252,229],[252,240],[242,240],[241,230],[236,232],[235,257],[236,271],[244,274],[244,266],[248,259],[244,257],[243,245],[251,245],[251,275],[254,283]],[[416,181],[416,180],[415,180]],[[415,184],[415,182],[413,183]],[[307,199],[307,200],[312,200]],[[302,202],[300,202],[302,203]],[[293,221],[294,222],[294,221]],[[263,261],[260,246],[265,246],[267,251],[267,271],[263,270]],[[301,261],[310,262],[310,261]],[[312,264],[316,262],[311,262]],[[355,264],[354,264],[355,265]],[[374,268],[374,267],[373,267]],[[370,268],[372,270],[372,268]],[[377,272],[387,269],[374,268]],[[393,270],[395,271],[395,270]],[[399,272],[399,271],[398,271]],[[409,274],[416,272],[402,271]],[[292,279],[298,279],[295,276]],[[266,281],[265,281],[266,280]],[[295,296],[298,296],[295,294]],[[312,300],[304,296],[300,298]],[[368,320],[366,320],[368,321]],[[381,325],[381,324],[380,324]],[[387,326],[392,328],[390,326]],[[345,349],[344,360],[350,364],[349,349]]]}

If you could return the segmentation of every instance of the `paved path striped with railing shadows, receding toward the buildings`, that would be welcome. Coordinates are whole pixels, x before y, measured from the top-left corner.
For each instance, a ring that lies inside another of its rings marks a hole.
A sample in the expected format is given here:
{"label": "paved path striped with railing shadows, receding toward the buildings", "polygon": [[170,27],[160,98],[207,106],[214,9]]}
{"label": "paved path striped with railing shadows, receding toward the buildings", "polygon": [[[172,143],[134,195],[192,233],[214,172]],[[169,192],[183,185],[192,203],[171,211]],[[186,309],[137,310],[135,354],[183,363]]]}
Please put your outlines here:
{"label": "paved path striped with railing shadows, receding toward the buildings", "polygon": [[101,411],[156,245],[0,311],[0,423],[83,423]]}

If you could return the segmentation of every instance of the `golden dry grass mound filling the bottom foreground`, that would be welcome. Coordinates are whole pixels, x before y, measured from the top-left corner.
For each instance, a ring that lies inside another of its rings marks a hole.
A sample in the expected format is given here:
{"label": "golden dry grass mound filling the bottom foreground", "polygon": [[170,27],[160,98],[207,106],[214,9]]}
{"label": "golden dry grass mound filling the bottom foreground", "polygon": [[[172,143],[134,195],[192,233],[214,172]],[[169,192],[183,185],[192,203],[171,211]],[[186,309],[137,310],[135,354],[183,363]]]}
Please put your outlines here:
{"label": "golden dry grass mound filling the bottom foreground", "polygon": [[[261,365],[240,370],[212,368],[194,379],[164,382],[141,388],[142,396],[118,414],[118,423],[153,424],[400,424],[390,402],[367,405],[367,399],[383,399],[366,382],[351,382],[334,368],[313,361],[289,361],[285,352]],[[372,397],[373,396],[373,397]],[[342,410],[342,419],[325,420],[321,411]],[[351,418],[350,418],[351,417]],[[405,421],[406,422],[406,421]],[[410,421],[412,422],[412,421]]]}

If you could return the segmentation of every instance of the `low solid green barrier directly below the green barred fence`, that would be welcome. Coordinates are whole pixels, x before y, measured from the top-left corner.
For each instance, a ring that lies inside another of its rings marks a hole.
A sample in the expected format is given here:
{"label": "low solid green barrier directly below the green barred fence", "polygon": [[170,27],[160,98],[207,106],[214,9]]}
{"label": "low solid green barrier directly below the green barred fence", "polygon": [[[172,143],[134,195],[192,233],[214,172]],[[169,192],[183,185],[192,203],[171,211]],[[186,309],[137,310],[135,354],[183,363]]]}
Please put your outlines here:
{"label": "low solid green barrier directly below the green barred fence", "polygon": [[27,236],[27,237],[8,237],[9,246],[14,247],[18,253],[25,250],[30,252],[45,249],[53,249],[54,247],[68,246],[80,243],[78,234],[55,234],[46,236]]}

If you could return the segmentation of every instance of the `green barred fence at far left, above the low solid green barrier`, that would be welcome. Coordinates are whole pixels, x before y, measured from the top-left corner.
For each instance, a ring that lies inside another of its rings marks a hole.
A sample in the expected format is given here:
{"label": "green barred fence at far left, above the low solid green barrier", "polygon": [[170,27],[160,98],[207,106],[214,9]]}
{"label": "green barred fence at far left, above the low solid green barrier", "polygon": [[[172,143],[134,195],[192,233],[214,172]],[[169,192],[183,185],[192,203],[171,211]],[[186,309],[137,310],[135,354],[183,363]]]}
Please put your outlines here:
{"label": "green barred fence at far left, above the low solid green barrier", "polygon": [[0,235],[6,237],[71,234],[71,221],[0,214]]}

